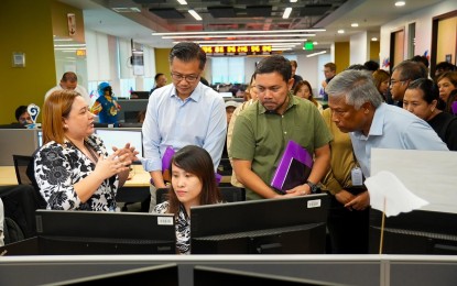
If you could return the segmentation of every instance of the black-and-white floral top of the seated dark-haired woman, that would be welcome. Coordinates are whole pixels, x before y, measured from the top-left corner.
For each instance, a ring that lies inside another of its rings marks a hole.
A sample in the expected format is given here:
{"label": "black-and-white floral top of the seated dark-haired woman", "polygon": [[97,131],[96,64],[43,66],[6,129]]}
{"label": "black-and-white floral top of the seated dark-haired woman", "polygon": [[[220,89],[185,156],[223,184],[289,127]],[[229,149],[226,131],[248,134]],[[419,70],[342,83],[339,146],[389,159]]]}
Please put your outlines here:
{"label": "black-and-white floral top of the seated dark-haired woman", "polygon": [[[166,213],[168,201],[164,201],[154,207],[153,212]],[[191,218],[187,216],[183,205],[179,205],[179,212],[175,216],[176,249],[179,254],[191,254]]]}

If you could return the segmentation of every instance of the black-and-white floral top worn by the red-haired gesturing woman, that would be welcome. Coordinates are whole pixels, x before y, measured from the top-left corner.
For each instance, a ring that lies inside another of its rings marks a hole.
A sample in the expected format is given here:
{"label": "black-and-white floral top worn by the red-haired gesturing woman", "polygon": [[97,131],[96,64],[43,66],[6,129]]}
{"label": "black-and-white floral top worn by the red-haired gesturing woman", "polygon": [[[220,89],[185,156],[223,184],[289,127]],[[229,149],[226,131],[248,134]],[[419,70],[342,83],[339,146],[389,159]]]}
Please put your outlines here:
{"label": "black-and-white floral top worn by the red-haired gesturing woman", "polygon": [[[86,144],[90,145],[98,156],[108,156],[102,141],[97,135],[90,135]],[[93,173],[95,166],[68,141],[65,141],[64,145],[54,141],[43,145],[34,155],[34,168],[35,179],[41,195],[47,202],[47,209],[115,211],[118,176],[105,179],[86,202],[81,202],[75,193],[74,185]]]}

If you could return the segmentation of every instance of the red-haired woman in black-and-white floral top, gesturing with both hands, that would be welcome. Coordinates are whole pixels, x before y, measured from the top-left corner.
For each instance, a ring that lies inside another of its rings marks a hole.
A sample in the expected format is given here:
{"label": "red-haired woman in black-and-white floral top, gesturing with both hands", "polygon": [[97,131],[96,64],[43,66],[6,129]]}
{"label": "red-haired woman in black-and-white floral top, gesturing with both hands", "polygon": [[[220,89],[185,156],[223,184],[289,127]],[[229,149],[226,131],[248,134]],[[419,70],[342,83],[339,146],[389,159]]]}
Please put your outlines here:
{"label": "red-haired woman in black-and-white floral top, gesturing with both hands", "polygon": [[130,144],[108,156],[94,134],[94,114],[74,90],[54,91],[43,107],[43,146],[34,173],[47,209],[115,211],[116,194],[138,160]]}

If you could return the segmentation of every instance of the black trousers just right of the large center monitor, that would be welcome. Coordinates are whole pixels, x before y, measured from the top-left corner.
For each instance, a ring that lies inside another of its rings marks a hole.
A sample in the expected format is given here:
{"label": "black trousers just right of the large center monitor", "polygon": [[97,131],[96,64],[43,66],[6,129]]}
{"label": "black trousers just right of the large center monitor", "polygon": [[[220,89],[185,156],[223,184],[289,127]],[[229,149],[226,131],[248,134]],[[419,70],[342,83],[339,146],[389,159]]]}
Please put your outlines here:
{"label": "black trousers just right of the large center monitor", "polygon": [[[353,195],[363,190],[349,189]],[[327,227],[333,254],[368,254],[369,208],[348,210],[330,195]]]}

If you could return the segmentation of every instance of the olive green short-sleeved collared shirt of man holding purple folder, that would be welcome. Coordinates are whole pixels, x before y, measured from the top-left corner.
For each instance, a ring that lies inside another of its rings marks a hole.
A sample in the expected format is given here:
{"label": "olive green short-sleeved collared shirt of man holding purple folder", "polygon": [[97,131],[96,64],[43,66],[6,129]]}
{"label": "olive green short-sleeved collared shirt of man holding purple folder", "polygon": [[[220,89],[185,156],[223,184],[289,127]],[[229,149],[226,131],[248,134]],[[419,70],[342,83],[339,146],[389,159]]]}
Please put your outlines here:
{"label": "olive green short-sleeved collared shirt of man holding purple folder", "polygon": [[[266,111],[258,101],[240,112],[235,122],[230,155],[250,161],[252,170],[268,186],[290,140],[314,154],[333,139],[313,102],[289,97],[287,109],[282,116]],[[246,189],[248,199],[261,199],[253,190]]]}

